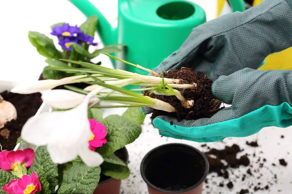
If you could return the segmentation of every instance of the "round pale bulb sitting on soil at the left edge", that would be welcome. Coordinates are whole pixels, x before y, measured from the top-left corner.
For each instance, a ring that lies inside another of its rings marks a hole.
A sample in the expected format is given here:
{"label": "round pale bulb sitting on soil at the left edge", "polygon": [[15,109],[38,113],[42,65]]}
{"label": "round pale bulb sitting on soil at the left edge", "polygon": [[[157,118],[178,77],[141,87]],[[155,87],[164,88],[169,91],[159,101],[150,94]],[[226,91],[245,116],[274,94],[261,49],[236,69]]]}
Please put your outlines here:
{"label": "round pale bulb sitting on soil at the left edge", "polygon": [[5,101],[0,95],[0,128],[12,120],[17,119],[17,111],[13,104],[8,101]]}

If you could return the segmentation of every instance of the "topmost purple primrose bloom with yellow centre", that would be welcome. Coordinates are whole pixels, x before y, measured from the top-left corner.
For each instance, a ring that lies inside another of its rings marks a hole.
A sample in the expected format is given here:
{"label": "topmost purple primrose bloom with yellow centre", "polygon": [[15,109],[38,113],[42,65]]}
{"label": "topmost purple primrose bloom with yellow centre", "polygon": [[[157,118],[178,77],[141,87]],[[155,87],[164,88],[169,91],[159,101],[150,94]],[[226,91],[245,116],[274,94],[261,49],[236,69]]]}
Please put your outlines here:
{"label": "topmost purple primrose bloom with yellow centre", "polygon": [[54,36],[63,37],[76,37],[80,33],[80,29],[76,26],[69,26],[69,24],[63,24],[63,26],[55,26],[52,29],[51,34]]}

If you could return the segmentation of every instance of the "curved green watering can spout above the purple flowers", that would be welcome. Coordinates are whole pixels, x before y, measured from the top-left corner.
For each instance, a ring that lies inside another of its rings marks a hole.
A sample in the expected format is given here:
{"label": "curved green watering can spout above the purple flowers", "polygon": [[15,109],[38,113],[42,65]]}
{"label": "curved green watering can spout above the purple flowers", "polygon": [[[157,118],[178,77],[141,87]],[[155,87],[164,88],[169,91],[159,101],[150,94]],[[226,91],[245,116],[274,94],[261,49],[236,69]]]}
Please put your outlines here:
{"label": "curved green watering can spout above the purple flowers", "polygon": [[98,17],[97,32],[105,46],[117,43],[117,29],[113,28],[109,21],[89,0],[69,0],[86,17],[96,15]]}

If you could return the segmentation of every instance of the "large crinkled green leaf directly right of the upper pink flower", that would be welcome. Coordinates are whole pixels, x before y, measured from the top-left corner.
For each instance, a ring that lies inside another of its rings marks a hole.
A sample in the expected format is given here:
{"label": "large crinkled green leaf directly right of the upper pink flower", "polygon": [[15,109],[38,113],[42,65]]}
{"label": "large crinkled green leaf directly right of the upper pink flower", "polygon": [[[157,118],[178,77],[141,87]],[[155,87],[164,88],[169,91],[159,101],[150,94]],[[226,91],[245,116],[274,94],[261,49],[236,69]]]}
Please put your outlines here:
{"label": "large crinkled green leaf directly right of the upper pink flower", "polygon": [[113,114],[106,117],[102,124],[107,127],[107,143],[98,147],[96,151],[102,156],[109,156],[116,150],[134,142],[142,132],[142,128],[122,116]]}

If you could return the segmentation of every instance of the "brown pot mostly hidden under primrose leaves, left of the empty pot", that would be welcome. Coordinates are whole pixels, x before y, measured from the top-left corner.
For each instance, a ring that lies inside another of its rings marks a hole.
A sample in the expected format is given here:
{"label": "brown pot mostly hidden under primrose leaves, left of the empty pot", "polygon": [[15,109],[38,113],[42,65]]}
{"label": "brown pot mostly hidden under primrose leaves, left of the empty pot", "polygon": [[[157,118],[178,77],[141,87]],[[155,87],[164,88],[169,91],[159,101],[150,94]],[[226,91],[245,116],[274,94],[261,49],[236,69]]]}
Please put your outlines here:
{"label": "brown pot mostly hidden under primrose leaves, left of the empty pot", "polygon": [[[117,157],[125,162],[129,162],[128,150],[126,147],[117,150],[114,153]],[[120,194],[122,180],[117,180],[100,174],[100,180],[93,194]]]}

